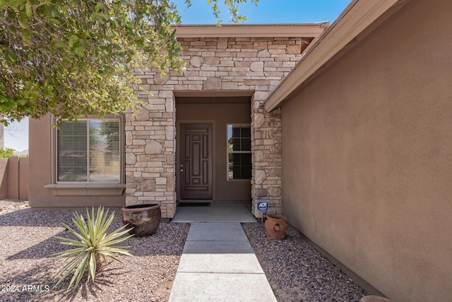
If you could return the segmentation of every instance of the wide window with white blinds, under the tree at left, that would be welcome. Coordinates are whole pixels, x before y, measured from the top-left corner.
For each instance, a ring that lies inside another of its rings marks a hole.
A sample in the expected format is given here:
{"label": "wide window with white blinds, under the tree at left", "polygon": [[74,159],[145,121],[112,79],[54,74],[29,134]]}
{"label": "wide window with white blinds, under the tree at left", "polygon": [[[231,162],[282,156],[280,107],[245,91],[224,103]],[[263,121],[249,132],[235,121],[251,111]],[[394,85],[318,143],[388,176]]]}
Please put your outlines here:
{"label": "wide window with white blinds, under the tree at left", "polygon": [[58,182],[119,182],[119,119],[62,121],[57,130]]}

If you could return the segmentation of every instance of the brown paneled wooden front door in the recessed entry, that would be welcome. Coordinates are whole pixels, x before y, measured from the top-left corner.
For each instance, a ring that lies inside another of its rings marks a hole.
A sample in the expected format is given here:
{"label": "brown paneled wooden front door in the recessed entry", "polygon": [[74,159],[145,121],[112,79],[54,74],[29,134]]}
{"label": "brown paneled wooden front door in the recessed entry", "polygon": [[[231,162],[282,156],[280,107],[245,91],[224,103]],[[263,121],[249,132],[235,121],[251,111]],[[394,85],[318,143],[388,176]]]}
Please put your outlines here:
{"label": "brown paneled wooden front door in the recessed entry", "polygon": [[180,199],[212,199],[212,124],[181,124]]}

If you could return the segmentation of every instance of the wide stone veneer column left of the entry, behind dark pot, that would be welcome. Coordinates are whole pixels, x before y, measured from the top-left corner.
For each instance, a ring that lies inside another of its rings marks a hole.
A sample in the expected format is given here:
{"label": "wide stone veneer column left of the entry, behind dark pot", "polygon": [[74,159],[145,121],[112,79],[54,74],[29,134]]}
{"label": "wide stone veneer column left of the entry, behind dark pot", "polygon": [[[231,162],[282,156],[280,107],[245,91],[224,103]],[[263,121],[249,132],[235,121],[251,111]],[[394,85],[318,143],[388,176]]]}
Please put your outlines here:
{"label": "wide stone veneer column left of the entry, behind dark pot", "polygon": [[176,212],[174,94],[154,91],[153,95],[140,95],[149,105],[137,116],[126,114],[126,204],[158,202],[162,217],[173,217]]}

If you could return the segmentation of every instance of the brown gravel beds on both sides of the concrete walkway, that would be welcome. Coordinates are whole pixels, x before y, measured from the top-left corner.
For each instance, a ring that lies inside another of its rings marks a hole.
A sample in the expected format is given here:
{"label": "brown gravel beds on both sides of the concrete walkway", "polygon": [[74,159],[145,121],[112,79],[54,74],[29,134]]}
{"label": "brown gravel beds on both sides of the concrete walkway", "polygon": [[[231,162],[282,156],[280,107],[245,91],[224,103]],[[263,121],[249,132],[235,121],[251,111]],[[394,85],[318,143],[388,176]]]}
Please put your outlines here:
{"label": "brown gravel beds on both sides of the concrete walkway", "polygon": [[[69,236],[61,222],[71,225],[72,213],[0,201],[0,301],[168,300],[189,223],[161,223],[153,236],[126,240],[134,257],[119,255],[123,263],[111,262],[95,284],[82,281],[66,292],[69,281],[51,283],[64,260],[50,255],[64,250],[54,236]],[[112,229],[121,225],[117,213]],[[285,240],[270,240],[260,223],[242,225],[278,301],[359,301],[367,294],[292,228]]]}

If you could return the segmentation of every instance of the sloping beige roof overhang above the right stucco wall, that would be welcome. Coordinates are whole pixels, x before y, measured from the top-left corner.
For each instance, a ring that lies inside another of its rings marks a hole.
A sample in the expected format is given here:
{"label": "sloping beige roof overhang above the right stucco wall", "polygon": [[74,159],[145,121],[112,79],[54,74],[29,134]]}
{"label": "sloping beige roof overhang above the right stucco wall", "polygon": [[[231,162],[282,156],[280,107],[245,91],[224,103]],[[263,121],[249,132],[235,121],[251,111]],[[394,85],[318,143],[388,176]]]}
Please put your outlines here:
{"label": "sloping beige roof overhang above the right stucco wall", "polygon": [[352,1],[338,19],[314,42],[297,66],[275,88],[275,91],[268,96],[265,102],[266,110],[271,111],[277,108],[295,89],[319,71],[335,54],[338,54],[349,43],[351,44],[360,33],[397,2],[405,3],[406,1]]}

